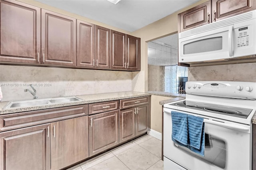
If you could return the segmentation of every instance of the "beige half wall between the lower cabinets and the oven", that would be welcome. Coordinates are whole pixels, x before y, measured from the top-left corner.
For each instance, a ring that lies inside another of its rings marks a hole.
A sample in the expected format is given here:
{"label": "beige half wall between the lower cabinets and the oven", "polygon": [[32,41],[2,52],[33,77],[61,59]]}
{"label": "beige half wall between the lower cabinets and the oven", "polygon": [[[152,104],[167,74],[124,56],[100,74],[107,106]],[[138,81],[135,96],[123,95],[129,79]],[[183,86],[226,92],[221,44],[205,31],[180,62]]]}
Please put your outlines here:
{"label": "beige half wall between the lower cabinets and the oven", "polygon": [[162,133],[162,105],[159,104],[162,100],[172,99],[163,96],[151,96],[151,129]]}

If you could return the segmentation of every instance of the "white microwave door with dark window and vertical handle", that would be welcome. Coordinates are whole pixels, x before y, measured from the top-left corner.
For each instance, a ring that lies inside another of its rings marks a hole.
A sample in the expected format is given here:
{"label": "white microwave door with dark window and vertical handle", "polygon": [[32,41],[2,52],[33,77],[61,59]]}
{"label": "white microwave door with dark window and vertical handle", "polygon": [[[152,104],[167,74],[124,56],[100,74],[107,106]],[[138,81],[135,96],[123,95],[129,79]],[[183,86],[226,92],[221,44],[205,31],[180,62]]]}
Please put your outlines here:
{"label": "white microwave door with dark window and vertical handle", "polygon": [[180,38],[180,63],[220,60],[234,57],[234,25]]}

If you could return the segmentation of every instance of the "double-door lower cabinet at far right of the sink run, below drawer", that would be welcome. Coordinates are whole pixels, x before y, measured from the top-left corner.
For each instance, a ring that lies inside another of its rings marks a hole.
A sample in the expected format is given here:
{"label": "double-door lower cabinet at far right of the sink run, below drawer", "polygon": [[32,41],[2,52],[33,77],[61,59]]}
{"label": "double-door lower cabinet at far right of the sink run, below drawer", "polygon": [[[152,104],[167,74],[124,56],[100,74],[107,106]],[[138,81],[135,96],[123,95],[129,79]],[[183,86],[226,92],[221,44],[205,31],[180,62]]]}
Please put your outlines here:
{"label": "double-door lower cabinet at far right of the sink run, below drawer", "polygon": [[120,110],[120,143],[148,131],[148,108],[146,104]]}

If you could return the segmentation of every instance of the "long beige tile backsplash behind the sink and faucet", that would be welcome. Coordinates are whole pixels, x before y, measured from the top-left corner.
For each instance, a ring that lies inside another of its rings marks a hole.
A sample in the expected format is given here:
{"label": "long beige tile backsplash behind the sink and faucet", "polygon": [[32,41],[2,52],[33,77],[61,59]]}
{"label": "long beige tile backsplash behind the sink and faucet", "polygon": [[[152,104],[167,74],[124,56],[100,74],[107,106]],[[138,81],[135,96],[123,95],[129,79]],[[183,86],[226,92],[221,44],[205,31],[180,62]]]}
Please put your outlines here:
{"label": "long beige tile backsplash behind the sink and faucet", "polygon": [[0,65],[2,101],[132,91],[132,72]]}

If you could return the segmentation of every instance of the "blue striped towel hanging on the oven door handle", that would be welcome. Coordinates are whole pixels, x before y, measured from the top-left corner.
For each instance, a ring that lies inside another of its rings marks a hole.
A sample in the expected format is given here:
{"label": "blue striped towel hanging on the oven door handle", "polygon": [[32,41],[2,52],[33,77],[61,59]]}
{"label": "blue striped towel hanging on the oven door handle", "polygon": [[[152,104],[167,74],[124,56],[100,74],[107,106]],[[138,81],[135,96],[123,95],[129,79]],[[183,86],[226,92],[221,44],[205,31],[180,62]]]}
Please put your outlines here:
{"label": "blue striped towel hanging on the oven door handle", "polygon": [[204,156],[204,119],[172,111],[172,140]]}

